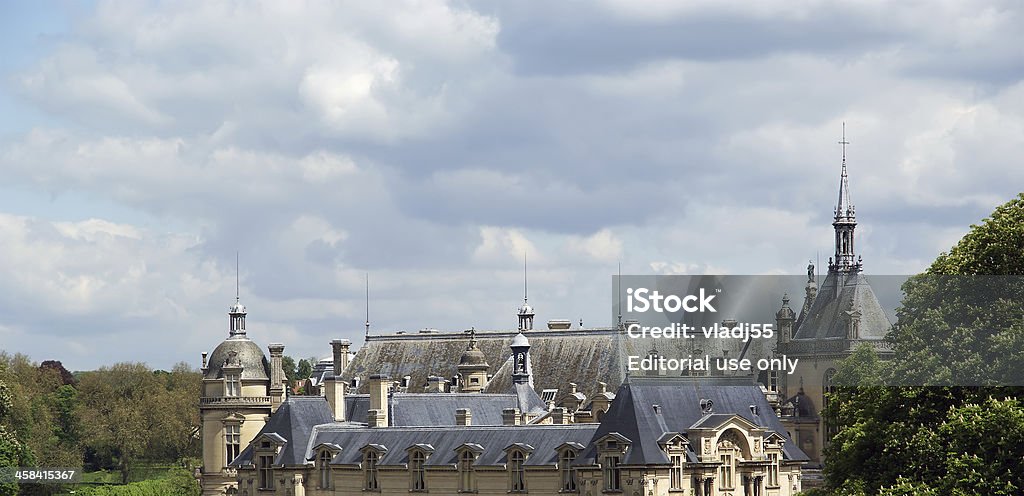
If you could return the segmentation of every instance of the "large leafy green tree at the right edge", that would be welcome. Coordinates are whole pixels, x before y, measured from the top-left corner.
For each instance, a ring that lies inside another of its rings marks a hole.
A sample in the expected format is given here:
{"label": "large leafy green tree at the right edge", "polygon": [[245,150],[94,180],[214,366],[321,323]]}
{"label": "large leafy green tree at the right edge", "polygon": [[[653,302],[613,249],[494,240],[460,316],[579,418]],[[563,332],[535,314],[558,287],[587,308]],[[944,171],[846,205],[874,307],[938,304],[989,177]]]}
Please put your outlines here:
{"label": "large leafy green tree at the right edge", "polygon": [[[837,390],[841,430],[826,451],[829,489],[1021,494],[1022,246],[1024,194],[904,284],[889,335],[894,358],[879,364],[885,383],[903,386]],[[855,376],[868,362],[857,357],[841,373]]]}

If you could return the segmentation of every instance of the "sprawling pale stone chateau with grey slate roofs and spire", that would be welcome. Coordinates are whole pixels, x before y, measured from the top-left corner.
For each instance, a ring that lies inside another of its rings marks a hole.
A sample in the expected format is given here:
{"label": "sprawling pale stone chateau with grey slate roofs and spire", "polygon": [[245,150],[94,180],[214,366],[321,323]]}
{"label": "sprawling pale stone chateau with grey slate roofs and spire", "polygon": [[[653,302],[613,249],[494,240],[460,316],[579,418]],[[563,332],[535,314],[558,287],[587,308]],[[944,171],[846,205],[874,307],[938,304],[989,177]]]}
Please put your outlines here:
{"label": "sprawling pale stone chateau with grey slate roofs and spire", "polygon": [[890,327],[848,189],[844,155],[828,274],[818,288],[808,271],[799,315],[782,297],[777,341],[758,352],[801,359],[782,377],[631,375],[627,358],[656,343],[622,323],[535,329],[524,298],[515,330],[368,333],[354,357],[335,339],[307,396],[290,396],[284,345],[268,361],[237,298],[227,339],[203,354],[203,494],[796,494],[827,443],[837,361],[862,342],[885,352]]}

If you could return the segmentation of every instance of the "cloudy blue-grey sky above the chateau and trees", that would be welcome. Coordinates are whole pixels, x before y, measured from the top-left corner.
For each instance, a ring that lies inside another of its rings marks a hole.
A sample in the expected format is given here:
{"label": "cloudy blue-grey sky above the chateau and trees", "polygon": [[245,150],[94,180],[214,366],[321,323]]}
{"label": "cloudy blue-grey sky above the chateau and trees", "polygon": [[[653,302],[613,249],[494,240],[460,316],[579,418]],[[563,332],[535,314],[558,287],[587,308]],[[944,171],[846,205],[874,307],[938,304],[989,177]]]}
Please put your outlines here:
{"label": "cloudy blue-grey sky above the chateau and trees", "polygon": [[0,349],[297,358],[610,322],[610,276],[803,274],[842,123],[869,274],[1024,184],[1016,2],[0,4]]}

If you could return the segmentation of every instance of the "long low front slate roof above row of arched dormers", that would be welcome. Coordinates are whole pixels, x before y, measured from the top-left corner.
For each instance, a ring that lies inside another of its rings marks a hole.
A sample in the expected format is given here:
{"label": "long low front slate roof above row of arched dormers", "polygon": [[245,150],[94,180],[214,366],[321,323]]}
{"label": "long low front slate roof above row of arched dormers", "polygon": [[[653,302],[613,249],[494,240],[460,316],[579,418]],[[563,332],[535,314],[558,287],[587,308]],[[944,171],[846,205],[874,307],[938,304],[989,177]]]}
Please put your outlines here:
{"label": "long low front slate roof above row of arched dormers", "polygon": [[[457,459],[456,449],[466,445],[479,445],[482,453],[477,466],[501,466],[506,462],[505,449],[519,443],[528,445],[532,452],[526,465],[553,465],[558,460],[556,448],[566,442],[585,445],[596,424],[571,425],[516,425],[516,426],[431,426],[431,427],[352,427],[342,424],[317,425],[308,444],[308,450],[323,443],[342,447],[333,464],[356,464],[362,460],[359,449],[377,444],[387,448],[380,465],[402,465],[409,460],[406,451],[417,444],[427,444],[434,452],[427,457],[427,465],[452,465]],[[307,452],[307,458],[312,457]]]}

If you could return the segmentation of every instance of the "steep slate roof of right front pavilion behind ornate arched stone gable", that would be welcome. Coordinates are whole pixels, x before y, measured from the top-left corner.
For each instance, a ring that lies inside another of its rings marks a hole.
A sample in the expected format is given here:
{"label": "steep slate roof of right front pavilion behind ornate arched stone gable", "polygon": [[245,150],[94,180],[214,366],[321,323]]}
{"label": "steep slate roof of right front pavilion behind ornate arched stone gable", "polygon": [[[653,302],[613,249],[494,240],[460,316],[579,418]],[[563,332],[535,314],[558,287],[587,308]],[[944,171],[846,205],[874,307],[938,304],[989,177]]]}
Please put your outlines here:
{"label": "steep slate roof of right front pavilion behind ornate arched stone gable", "polygon": [[[701,399],[713,402],[711,415],[706,415],[700,409]],[[654,405],[659,407],[658,412],[655,412]],[[751,405],[757,407],[758,415],[751,411]],[[657,440],[667,431],[685,435],[694,425],[715,424],[733,414],[784,438],[782,451],[785,459],[808,459],[788,439],[785,428],[757,384],[726,377],[638,376],[630,377],[618,387],[615,401],[575,464],[594,463],[597,447],[593,442],[611,432],[631,441],[624,464],[668,464],[668,456],[657,445]],[[708,419],[707,416],[713,418]]]}

